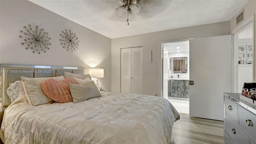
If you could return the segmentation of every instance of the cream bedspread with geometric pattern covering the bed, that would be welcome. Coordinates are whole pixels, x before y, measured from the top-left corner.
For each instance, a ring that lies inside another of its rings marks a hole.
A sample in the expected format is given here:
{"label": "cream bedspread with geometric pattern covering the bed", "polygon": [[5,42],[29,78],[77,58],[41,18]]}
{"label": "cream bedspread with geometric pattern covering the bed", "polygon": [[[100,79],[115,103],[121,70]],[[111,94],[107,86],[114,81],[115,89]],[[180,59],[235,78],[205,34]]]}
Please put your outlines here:
{"label": "cream bedspread with geometric pattern covering the bed", "polygon": [[179,114],[157,96],[102,92],[79,103],[30,106],[18,98],[5,111],[5,144],[169,144]]}

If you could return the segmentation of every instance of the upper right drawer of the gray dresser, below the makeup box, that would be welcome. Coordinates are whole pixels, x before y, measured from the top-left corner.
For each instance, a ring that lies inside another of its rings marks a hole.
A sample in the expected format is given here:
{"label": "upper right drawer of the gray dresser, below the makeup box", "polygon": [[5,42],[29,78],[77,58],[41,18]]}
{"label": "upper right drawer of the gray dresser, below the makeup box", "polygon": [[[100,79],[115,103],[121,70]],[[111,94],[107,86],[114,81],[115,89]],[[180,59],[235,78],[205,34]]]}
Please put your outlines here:
{"label": "upper right drawer of the gray dresser, below the makeup box", "polygon": [[246,130],[246,132],[248,132],[253,138],[256,138],[256,116],[241,106],[238,107],[238,112],[239,125],[242,126],[242,128],[244,128],[244,130]]}

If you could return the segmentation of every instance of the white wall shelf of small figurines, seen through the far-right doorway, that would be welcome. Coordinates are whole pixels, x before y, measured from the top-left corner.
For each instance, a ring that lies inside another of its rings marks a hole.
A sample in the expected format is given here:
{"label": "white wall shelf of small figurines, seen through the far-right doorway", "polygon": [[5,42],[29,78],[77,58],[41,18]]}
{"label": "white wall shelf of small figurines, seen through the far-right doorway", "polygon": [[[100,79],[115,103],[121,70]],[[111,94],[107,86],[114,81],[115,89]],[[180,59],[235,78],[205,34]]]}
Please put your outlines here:
{"label": "white wall shelf of small figurines, seen through the far-right doorway", "polygon": [[253,64],[253,46],[252,43],[238,45],[238,65],[250,66]]}

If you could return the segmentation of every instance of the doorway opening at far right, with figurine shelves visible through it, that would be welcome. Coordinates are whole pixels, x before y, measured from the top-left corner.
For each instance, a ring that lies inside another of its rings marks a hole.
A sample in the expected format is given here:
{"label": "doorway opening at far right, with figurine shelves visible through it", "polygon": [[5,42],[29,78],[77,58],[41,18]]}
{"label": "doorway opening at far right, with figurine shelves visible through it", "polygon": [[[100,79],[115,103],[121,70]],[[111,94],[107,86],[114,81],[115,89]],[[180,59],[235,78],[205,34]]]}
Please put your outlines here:
{"label": "doorway opening at far right, with figurine shelves visible through it", "polygon": [[[232,33],[233,34],[233,33]],[[242,93],[244,82],[253,82],[254,71],[253,20],[234,34],[234,92]]]}

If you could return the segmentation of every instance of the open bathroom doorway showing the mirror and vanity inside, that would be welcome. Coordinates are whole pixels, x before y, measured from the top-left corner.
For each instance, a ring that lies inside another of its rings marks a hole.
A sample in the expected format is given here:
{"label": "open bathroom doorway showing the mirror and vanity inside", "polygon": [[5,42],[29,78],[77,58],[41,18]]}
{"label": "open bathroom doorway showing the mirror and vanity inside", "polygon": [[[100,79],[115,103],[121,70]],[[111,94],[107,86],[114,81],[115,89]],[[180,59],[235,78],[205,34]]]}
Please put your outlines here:
{"label": "open bathroom doorway showing the mirror and vanity inside", "polygon": [[189,114],[189,39],[160,42],[162,97]]}

